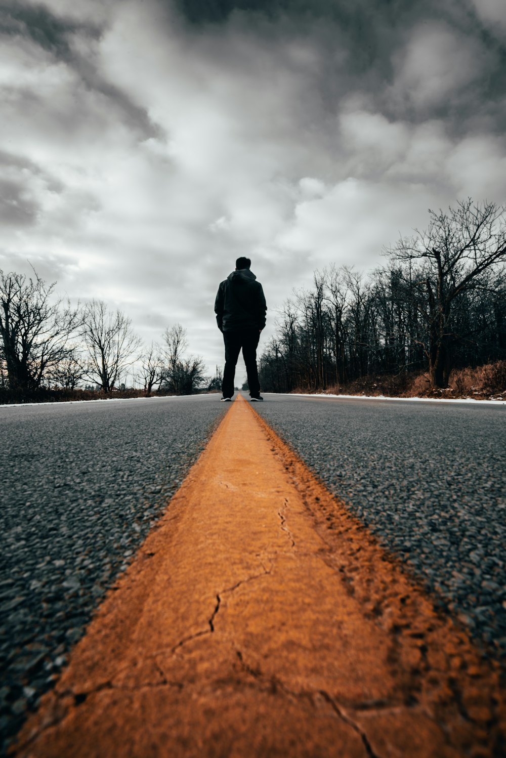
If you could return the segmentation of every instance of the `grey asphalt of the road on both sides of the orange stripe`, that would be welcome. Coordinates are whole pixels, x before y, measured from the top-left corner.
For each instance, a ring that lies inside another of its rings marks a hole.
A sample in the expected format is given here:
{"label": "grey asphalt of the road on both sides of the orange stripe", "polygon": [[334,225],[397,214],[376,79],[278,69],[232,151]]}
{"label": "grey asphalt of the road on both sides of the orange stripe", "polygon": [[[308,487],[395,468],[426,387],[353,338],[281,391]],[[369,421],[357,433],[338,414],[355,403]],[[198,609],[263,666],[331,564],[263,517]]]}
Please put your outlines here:
{"label": "grey asphalt of the road on both sides of the orange stripe", "polygon": [[[0,408],[0,753],[229,407],[214,395]],[[504,659],[506,407],[254,407]]]}

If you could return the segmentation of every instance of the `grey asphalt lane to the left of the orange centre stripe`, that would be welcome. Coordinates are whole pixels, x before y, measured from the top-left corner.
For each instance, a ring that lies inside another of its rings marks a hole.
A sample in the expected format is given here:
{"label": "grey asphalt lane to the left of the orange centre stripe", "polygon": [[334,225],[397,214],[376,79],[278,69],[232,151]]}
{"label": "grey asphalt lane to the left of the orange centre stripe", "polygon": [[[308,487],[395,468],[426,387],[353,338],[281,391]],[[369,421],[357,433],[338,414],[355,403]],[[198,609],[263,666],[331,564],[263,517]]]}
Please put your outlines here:
{"label": "grey asphalt lane to the left of the orange centre stripe", "polygon": [[0,754],[228,407],[211,395],[0,408]]}

